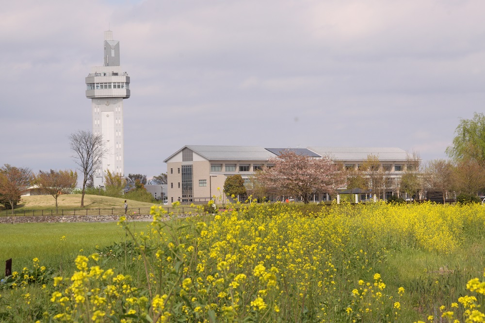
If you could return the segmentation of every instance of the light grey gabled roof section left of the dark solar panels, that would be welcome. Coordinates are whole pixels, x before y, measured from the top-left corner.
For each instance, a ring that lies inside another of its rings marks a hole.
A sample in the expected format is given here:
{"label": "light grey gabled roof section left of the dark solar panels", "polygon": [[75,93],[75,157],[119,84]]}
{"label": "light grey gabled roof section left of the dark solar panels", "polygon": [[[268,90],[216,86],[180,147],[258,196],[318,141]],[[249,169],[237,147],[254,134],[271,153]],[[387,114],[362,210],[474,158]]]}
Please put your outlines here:
{"label": "light grey gabled roof section left of the dark solar panels", "polygon": [[[204,145],[186,145],[179,149],[175,154],[185,147],[194,151],[194,153],[204,157],[209,161],[266,161],[276,155],[259,146],[204,146]],[[172,156],[164,160],[167,162]]]}

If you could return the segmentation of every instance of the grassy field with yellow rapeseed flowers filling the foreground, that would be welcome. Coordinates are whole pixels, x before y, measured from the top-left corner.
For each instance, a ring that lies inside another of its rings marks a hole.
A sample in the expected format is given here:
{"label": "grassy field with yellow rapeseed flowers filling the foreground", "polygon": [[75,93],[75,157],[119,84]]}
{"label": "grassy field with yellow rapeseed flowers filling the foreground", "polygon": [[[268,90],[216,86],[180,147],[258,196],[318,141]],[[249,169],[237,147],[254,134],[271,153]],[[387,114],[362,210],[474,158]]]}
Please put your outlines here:
{"label": "grassy field with yellow rapeseed flowers filling the foreground", "polygon": [[[13,249],[14,264],[24,253],[19,263],[27,267],[0,285],[0,321],[485,319],[480,205],[344,204],[303,213],[253,203],[215,216],[160,219],[121,220],[126,231],[114,223],[0,226],[9,232],[0,243]],[[91,254],[118,242],[137,247]],[[44,275],[49,268],[62,278]]]}

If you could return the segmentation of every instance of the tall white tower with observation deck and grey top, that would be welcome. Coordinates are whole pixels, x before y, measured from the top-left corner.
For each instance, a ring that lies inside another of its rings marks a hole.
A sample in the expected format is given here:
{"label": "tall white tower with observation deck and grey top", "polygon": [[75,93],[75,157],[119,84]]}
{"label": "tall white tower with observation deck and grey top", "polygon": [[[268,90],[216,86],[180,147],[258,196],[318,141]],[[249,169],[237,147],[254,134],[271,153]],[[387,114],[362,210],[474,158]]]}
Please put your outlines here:
{"label": "tall white tower with observation deck and grey top", "polygon": [[119,41],[104,32],[104,64],[91,67],[86,77],[86,97],[91,99],[93,133],[103,137],[108,153],[95,171],[94,185],[104,185],[106,170],[124,176],[123,99],[129,98],[129,76],[120,66]]}

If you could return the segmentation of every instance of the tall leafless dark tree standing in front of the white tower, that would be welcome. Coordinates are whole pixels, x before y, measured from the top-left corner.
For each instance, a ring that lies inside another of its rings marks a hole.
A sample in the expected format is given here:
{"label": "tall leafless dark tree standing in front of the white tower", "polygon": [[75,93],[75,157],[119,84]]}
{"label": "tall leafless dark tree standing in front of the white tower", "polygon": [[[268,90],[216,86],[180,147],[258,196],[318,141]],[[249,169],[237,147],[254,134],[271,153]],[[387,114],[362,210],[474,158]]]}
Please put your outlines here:
{"label": "tall leafless dark tree standing in front of the white tower", "polygon": [[103,156],[108,153],[108,149],[104,147],[101,135],[95,135],[89,131],[78,130],[71,133],[68,138],[71,150],[74,152],[71,157],[82,172],[81,208],[83,208],[86,183],[100,168]]}

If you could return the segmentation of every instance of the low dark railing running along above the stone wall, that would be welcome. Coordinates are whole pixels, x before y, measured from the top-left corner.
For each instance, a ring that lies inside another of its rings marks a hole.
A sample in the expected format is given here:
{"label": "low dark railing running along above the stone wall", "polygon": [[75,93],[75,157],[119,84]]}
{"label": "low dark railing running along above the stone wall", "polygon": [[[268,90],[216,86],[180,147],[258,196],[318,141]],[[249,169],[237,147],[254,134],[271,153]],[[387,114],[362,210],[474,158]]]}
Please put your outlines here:
{"label": "low dark railing running along above the stone wall", "polygon": [[[174,208],[174,207],[162,207],[168,213],[185,213],[195,210],[194,208]],[[126,214],[150,214],[151,208],[128,208]],[[125,214],[124,208],[84,208],[84,209],[59,209],[59,210],[2,210],[0,216],[47,216],[47,215],[123,215]]]}

